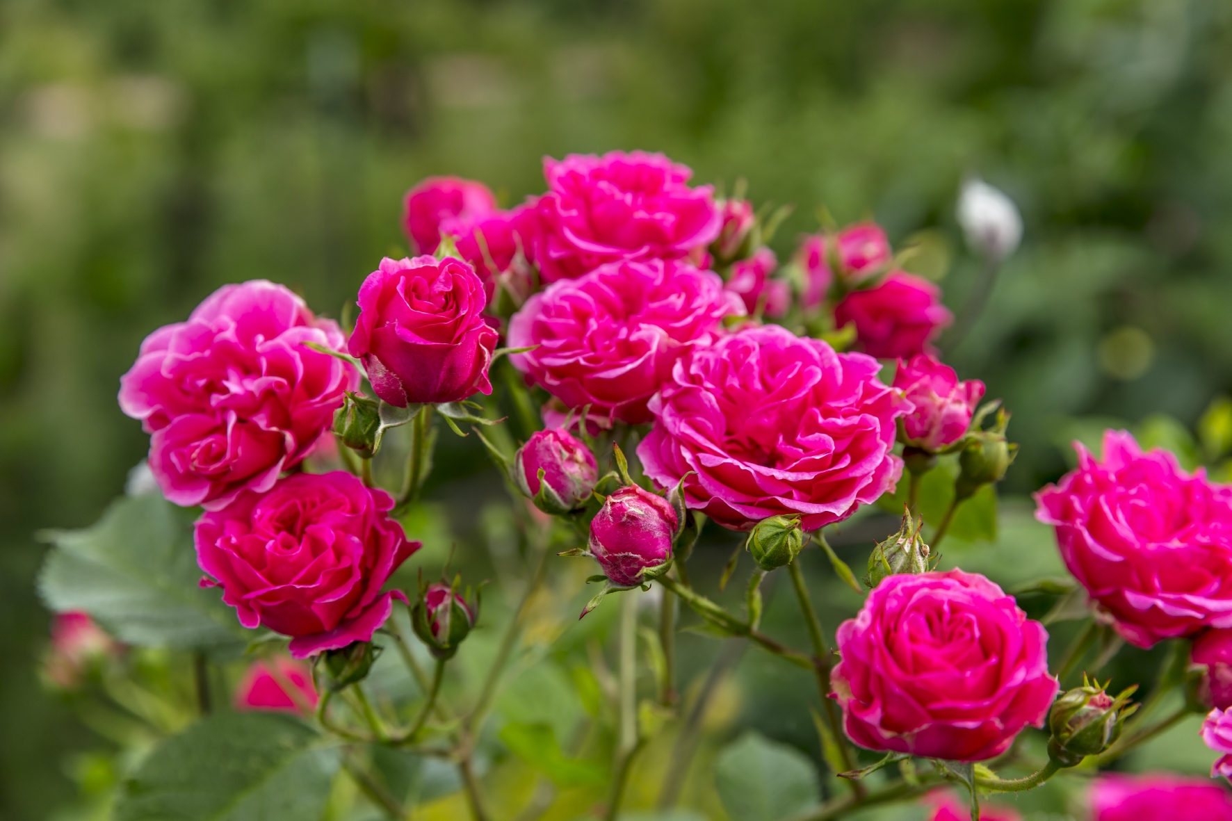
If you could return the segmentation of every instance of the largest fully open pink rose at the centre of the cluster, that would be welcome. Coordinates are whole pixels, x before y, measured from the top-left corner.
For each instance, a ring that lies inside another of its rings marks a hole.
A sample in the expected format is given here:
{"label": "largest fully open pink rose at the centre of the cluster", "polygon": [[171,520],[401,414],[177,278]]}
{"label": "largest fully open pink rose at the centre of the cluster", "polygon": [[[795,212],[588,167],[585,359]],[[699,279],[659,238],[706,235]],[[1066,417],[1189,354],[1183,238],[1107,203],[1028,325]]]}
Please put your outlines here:
{"label": "largest fully open pink rose at the centre of the cluster", "polygon": [[649,402],[638,445],[662,487],[724,528],[801,514],[804,530],[851,515],[892,488],[894,419],[907,403],[862,354],[835,354],[780,325],[747,328],[681,359]]}

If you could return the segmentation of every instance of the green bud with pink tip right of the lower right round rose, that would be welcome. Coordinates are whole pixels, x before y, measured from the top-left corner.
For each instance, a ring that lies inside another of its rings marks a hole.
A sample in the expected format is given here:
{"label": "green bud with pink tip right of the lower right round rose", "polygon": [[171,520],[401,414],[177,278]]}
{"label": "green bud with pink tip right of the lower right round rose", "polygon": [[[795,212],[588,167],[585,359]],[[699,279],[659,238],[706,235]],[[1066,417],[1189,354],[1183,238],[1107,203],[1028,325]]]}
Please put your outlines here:
{"label": "green bud with pink tip right of the lower right round rose", "polygon": [[1087,756],[1098,756],[1121,735],[1125,720],[1137,709],[1129,704],[1135,684],[1112,698],[1099,683],[1083,677],[1083,685],[1064,693],[1048,713],[1048,758],[1062,767],[1077,767]]}

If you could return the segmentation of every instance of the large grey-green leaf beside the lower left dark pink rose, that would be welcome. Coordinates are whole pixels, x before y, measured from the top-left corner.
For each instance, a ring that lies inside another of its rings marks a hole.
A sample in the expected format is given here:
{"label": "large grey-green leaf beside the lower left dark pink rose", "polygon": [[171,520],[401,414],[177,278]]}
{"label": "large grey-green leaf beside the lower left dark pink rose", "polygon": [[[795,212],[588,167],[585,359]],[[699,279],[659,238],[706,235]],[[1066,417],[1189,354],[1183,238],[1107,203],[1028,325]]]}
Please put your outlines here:
{"label": "large grey-green leaf beside the lower left dark pink rose", "polygon": [[49,530],[38,579],[52,610],[85,610],[112,635],[142,647],[239,655],[255,634],[201,570],[185,513],[158,493],[117,499],[84,530]]}

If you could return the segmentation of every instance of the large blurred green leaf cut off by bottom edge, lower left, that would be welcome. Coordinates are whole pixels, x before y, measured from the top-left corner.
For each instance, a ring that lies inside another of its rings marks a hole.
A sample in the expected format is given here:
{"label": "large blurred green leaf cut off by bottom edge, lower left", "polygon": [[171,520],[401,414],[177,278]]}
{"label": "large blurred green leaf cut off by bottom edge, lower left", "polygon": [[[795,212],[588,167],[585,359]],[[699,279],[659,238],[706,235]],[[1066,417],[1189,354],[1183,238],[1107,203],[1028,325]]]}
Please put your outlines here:
{"label": "large blurred green leaf cut off by bottom edge, lower left", "polygon": [[116,821],[319,819],[340,763],[280,713],[219,713],[161,742],[120,788]]}

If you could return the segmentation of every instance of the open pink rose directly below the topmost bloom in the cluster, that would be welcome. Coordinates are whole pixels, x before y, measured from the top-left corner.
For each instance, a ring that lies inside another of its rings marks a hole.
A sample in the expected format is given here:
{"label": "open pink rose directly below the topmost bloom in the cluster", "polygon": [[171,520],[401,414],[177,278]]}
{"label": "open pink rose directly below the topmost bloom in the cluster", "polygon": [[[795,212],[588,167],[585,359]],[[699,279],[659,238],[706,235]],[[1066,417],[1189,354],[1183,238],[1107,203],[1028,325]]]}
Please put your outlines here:
{"label": "open pink rose directly below the topmost bloom in the cluster", "polygon": [[514,366],[565,407],[631,424],[649,420],[646,402],[723,317],[742,316],[739,297],[712,271],[649,260],[604,265],[532,296],[509,321],[509,345],[535,350]]}

